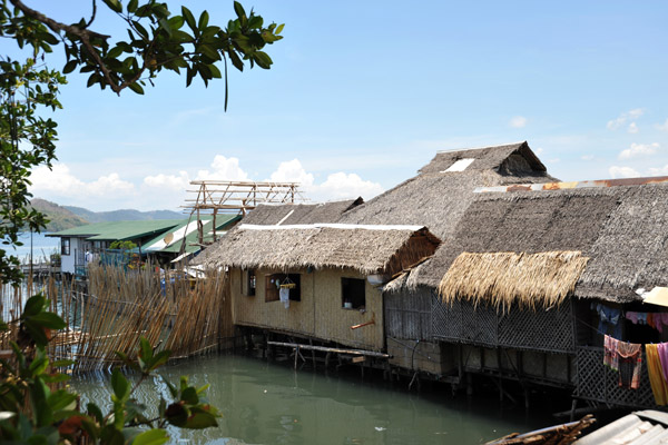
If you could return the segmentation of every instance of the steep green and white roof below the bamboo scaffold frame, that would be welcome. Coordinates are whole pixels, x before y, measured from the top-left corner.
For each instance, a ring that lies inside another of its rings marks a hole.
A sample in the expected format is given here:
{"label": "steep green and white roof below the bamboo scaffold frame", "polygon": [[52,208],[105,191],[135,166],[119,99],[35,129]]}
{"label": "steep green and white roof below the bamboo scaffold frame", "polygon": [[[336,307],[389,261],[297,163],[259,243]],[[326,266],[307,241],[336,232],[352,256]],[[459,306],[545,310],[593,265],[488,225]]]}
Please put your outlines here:
{"label": "steep green and white roof below the bamboo scaffold frame", "polygon": [[[213,241],[213,216],[206,215],[200,216],[199,218],[204,224],[204,241],[210,243]],[[236,221],[242,219],[240,215],[216,215],[216,235],[219,235],[220,231],[227,230],[229,227],[234,226]],[[169,234],[173,234],[173,239],[169,243],[165,243],[165,238],[168,237]],[[194,254],[198,251],[202,247],[196,246],[195,244],[198,241],[197,239],[197,220],[191,219],[190,222],[184,221],[177,227],[174,227],[167,233],[164,233],[156,238],[151,239],[148,243],[145,243],[141,250],[147,253],[170,253],[170,254],[179,254],[180,248],[184,241],[184,235],[186,238],[185,251],[188,254]]]}

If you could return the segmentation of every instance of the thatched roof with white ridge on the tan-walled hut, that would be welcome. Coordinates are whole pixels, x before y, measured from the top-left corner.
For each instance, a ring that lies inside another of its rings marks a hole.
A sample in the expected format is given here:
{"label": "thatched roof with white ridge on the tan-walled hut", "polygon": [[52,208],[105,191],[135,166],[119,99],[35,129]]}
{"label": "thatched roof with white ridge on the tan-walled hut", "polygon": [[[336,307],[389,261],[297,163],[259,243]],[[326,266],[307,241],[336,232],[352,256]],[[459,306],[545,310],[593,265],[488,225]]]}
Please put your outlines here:
{"label": "thatched roof with white ridge on the tan-walled hut", "polygon": [[206,268],[335,267],[392,275],[432,255],[439,243],[439,238],[420,226],[244,224],[195,263]]}

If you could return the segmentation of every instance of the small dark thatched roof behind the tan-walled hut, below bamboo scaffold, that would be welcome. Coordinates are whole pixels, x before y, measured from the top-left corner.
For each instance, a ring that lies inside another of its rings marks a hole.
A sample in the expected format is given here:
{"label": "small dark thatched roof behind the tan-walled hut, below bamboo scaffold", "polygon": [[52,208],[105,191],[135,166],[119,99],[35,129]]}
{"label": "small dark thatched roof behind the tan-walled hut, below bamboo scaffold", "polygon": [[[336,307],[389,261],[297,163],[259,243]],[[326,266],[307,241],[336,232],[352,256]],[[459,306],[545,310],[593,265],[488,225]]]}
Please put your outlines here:
{"label": "small dark thatched roof behind the tan-walled hut, below bamboo scaffold", "polygon": [[335,222],[347,210],[361,205],[364,199],[321,204],[259,205],[244,218],[244,224],[291,225]]}

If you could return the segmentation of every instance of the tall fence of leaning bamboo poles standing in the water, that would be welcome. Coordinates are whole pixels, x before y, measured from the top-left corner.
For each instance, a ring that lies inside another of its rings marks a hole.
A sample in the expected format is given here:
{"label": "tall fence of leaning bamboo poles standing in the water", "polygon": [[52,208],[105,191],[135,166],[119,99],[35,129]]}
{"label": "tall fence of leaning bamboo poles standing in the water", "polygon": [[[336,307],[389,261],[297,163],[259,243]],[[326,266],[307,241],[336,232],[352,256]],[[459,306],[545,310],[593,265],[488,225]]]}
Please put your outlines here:
{"label": "tall fence of leaning bamboo poles standing in the water", "polygon": [[[18,319],[27,296],[42,291],[50,310],[67,324],[53,336],[49,353],[56,359],[72,359],[73,373],[109,369],[120,364],[116,352],[135,358],[140,337],[156,350],[170,349],[175,359],[217,350],[219,339],[234,332],[224,273],[193,279],[151,267],[90,265],[87,285],[84,290],[73,280],[49,277],[39,287],[6,286],[0,314],[4,320]],[[9,349],[17,330],[0,337],[0,349]]]}

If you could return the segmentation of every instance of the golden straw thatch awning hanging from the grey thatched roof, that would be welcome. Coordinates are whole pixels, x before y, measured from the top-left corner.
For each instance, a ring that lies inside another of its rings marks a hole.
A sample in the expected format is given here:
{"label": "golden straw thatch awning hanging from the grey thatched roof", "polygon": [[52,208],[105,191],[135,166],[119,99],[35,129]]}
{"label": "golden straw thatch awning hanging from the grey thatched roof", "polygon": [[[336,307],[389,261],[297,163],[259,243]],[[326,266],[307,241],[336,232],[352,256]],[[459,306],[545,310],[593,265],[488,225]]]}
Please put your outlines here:
{"label": "golden straw thatch awning hanging from the grey thatched roof", "polygon": [[441,280],[439,294],[445,303],[459,298],[503,312],[514,303],[548,308],[572,294],[588,259],[580,251],[463,253]]}

